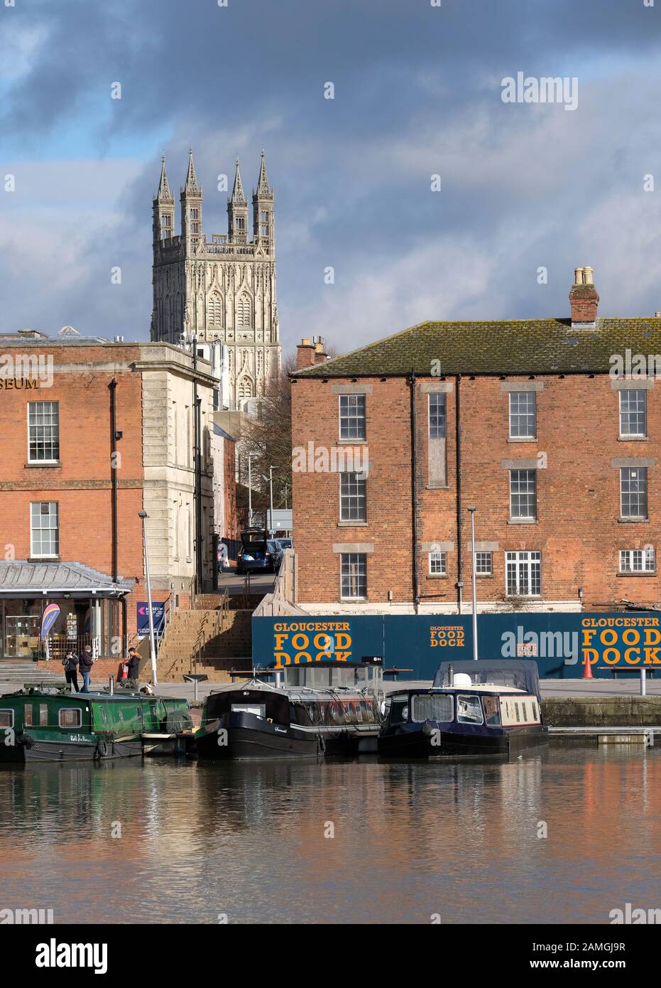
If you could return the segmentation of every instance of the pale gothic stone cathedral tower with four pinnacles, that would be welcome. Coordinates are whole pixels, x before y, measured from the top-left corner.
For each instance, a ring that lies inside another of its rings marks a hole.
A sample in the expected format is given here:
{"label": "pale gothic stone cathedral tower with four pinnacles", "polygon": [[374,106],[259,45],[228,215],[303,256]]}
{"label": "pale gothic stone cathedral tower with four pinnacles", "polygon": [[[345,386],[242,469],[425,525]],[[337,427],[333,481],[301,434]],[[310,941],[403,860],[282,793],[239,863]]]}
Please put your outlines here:
{"label": "pale gothic stone cathedral tower with four pinnacles", "polygon": [[252,237],[238,160],[232,196],[227,201],[227,234],[207,237],[202,232],[202,190],[191,148],[180,200],[182,233],[176,236],[175,198],[164,156],[153,201],[151,339],[179,346],[193,337],[226,344],[230,401],[233,408],[241,408],[246,398],[262,395],[280,369],[274,192],[266,177],[264,152],[253,193]]}

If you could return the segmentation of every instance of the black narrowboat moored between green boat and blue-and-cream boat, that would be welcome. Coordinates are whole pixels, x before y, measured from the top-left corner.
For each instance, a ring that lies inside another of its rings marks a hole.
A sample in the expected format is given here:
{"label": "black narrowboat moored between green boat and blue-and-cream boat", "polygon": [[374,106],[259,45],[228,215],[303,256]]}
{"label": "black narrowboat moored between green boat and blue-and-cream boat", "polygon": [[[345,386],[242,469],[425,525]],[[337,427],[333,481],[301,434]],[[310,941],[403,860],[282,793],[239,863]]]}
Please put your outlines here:
{"label": "black narrowboat moored between green boat and blue-and-cream boat", "polygon": [[[285,666],[209,694],[195,735],[200,758],[319,758],[376,751],[383,670],[374,663]],[[283,683],[280,685],[280,678]]]}

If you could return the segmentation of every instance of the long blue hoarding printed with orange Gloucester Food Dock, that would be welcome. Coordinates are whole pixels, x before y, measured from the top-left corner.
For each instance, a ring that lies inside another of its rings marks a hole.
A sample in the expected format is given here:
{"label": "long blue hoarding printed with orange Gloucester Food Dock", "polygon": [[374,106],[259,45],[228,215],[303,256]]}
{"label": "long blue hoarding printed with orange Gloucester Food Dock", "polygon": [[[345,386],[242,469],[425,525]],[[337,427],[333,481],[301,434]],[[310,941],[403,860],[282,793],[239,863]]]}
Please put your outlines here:
{"label": "long blue hoarding printed with orange Gloucester Food Dock", "polygon": [[[661,670],[661,614],[510,612],[477,616],[480,659],[536,659],[540,676],[576,679],[586,662],[593,675],[612,669]],[[255,665],[363,662],[383,656],[386,669],[410,668],[410,679],[433,679],[440,662],[473,658],[470,615],[254,617]]]}

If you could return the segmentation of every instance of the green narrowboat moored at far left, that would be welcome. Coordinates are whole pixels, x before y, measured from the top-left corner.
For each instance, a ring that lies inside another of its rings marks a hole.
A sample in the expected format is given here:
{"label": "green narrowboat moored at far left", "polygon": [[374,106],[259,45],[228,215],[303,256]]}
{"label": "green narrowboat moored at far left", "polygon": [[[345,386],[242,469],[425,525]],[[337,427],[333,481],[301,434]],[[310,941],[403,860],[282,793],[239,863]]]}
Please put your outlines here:
{"label": "green narrowboat moored at far left", "polygon": [[156,754],[191,727],[188,700],[126,691],[20,690],[0,697],[0,762]]}

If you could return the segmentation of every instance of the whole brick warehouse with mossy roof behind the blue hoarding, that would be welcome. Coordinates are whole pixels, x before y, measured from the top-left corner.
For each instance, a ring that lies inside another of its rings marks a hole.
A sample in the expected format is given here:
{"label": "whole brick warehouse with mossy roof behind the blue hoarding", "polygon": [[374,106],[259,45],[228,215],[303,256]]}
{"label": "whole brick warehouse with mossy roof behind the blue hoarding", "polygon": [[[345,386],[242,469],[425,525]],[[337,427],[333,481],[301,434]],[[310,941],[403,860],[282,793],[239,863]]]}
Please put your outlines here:
{"label": "whole brick warehouse with mossy roof behind the blue hoarding", "polygon": [[466,613],[469,507],[480,611],[659,600],[661,395],[653,371],[611,371],[661,353],[661,318],[598,317],[591,268],[569,300],[570,318],[423,323],[328,362],[303,341],[298,604]]}

